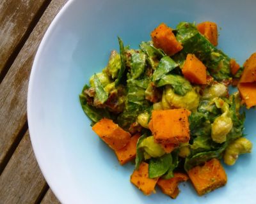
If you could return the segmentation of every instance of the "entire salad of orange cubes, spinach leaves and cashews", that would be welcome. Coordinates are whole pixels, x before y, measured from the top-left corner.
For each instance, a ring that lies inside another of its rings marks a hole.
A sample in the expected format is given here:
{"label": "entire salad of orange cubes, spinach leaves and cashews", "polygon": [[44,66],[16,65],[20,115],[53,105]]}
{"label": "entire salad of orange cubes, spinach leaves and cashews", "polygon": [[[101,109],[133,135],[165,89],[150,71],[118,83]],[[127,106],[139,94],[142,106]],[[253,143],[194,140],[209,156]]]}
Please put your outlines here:
{"label": "entire salad of orange cubes, spinach leaves and cashews", "polygon": [[[113,50],[79,95],[92,129],[121,165],[135,161],[131,183],[145,195],[159,186],[176,198],[179,182],[199,195],[227,183],[252,143],[243,107],[256,105],[256,53],[237,64],[218,49],[214,22],[160,24],[140,48]],[[229,94],[230,85],[237,92]]]}

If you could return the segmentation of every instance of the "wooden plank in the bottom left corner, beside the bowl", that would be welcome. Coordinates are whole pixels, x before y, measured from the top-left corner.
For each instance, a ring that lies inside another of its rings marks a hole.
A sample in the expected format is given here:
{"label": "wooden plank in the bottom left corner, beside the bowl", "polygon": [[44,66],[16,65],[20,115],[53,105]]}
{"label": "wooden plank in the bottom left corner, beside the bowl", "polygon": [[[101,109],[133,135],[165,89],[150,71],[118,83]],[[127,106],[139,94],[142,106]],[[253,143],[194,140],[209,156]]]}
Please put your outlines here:
{"label": "wooden plank in the bottom left corner, beside the bowl", "polygon": [[35,203],[47,184],[38,167],[28,132],[0,177],[0,203]]}

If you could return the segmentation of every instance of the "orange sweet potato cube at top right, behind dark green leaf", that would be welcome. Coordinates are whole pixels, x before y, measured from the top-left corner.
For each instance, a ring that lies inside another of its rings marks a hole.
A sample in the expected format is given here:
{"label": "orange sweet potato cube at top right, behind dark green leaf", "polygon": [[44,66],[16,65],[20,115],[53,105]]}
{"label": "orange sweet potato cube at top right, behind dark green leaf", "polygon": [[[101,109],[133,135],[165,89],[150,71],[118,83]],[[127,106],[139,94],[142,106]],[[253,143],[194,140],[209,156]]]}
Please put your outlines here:
{"label": "orange sweet potato cube at top right, behind dark green leaf", "polygon": [[214,22],[202,22],[198,25],[196,25],[198,31],[207,38],[212,45],[217,46],[218,45],[218,28],[217,24]]}

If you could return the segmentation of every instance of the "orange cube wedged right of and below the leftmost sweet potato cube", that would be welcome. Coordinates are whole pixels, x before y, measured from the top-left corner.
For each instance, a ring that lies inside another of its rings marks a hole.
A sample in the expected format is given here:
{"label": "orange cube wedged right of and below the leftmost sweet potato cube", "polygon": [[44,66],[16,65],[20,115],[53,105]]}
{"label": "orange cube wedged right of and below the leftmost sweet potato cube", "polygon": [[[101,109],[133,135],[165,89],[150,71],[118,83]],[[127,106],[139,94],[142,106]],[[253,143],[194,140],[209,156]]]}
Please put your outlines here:
{"label": "orange cube wedged right of and below the leftmost sweet potato cube", "polygon": [[122,149],[115,150],[116,157],[121,165],[131,161],[136,156],[136,144],[140,134],[131,137],[130,141]]}

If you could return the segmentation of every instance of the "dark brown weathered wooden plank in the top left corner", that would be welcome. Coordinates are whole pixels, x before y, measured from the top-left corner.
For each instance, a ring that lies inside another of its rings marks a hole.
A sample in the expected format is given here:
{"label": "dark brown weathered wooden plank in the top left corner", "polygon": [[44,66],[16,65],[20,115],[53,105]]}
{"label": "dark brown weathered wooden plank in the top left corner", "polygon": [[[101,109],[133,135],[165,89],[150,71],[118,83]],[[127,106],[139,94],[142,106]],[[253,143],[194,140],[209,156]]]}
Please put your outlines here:
{"label": "dark brown weathered wooden plank in the top left corner", "polygon": [[[0,75],[8,59],[19,47],[22,38],[36,23],[49,0],[3,0],[0,1]],[[28,34],[27,34],[28,35]]]}

